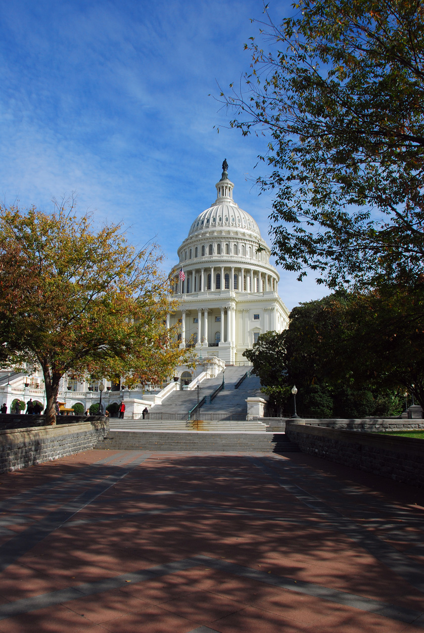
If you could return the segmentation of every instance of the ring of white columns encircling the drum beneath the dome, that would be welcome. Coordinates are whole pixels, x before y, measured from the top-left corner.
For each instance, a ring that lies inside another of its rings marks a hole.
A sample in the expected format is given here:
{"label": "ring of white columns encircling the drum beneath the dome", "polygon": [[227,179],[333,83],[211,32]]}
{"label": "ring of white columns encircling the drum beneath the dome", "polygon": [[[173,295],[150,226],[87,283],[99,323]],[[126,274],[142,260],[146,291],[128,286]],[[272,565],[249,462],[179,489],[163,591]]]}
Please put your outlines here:
{"label": "ring of white columns encircling the drum beneath the dome", "polygon": [[[228,268],[226,266],[211,266],[210,268],[201,268],[200,273],[196,274],[196,270],[185,271],[185,281],[182,282],[183,292],[187,289],[187,280],[190,279],[190,291],[192,292],[204,292],[205,290],[216,290],[216,273],[220,272],[221,274],[221,283],[220,290],[225,289],[225,270]],[[206,273],[205,273],[206,270]],[[210,273],[209,273],[210,270]],[[262,292],[262,285],[265,292],[277,291],[277,279],[268,273],[262,272],[261,270],[255,270],[254,268],[238,268],[235,266],[231,266],[228,275],[230,277],[230,283],[228,290],[234,291],[234,272],[235,270],[240,270],[240,274],[238,274],[238,283],[237,290],[244,292],[244,278],[246,277],[246,292]],[[207,285],[207,275],[211,275],[211,287],[208,288]],[[196,280],[196,283],[195,283]],[[262,284],[263,282],[263,284]],[[181,282],[173,285],[173,292],[178,294],[180,292]]]}

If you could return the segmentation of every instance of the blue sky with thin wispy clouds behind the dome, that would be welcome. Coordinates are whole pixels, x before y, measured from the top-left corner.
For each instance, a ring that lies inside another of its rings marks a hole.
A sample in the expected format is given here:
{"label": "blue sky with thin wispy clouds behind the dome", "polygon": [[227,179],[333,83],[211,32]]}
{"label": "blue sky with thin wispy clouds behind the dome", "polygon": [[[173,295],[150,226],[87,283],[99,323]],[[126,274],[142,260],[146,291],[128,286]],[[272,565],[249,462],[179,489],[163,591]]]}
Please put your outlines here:
{"label": "blue sky with thin wispy clouds behind the dome", "polygon": [[[270,3],[276,20],[290,2]],[[215,200],[227,158],[235,201],[268,241],[271,197],[253,180],[266,139],[229,130],[212,95],[248,69],[261,0],[14,0],[0,8],[0,195],[123,221],[177,261],[194,218]],[[220,127],[217,134],[216,128]],[[258,172],[258,173],[256,173]],[[279,269],[291,309],[327,294]]]}

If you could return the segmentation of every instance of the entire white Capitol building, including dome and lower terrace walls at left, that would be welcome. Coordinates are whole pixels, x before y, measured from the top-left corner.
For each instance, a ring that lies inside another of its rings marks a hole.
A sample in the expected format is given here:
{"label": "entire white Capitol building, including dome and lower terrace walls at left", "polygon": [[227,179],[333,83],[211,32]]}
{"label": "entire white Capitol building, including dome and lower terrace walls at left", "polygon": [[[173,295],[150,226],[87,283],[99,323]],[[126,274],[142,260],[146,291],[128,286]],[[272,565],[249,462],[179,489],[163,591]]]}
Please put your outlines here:
{"label": "entire white Capitol building, including dome and lower terrace walls at left", "polygon": [[[242,355],[259,334],[281,332],[289,324],[289,312],[278,296],[277,270],[270,263],[270,249],[253,217],[233,199],[234,184],[228,179],[227,161],[216,183],[216,200],[196,217],[178,248],[178,264],[170,279],[170,300],[179,307],[168,313],[167,327],[177,325],[180,348],[196,352],[196,369],[175,368],[175,378],[163,389],[128,390],[121,381],[103,380],[103,404],[125,401],[125,417],[138,416],[144,407],[160,406],[172,391],[195,389],[197,380],[215,378],[228,365],[248,364]],[[184,279],[182,279],[184,278]],[[178,381],[176,380],[178,377]],[[61,379],[59,403],[65,408],[80,403],[84,410],[99,402],[99,382]],[[15,399],[46,406],[44,381],[39,368],[27,372],[0,372],[0,404],[8,412]]]}

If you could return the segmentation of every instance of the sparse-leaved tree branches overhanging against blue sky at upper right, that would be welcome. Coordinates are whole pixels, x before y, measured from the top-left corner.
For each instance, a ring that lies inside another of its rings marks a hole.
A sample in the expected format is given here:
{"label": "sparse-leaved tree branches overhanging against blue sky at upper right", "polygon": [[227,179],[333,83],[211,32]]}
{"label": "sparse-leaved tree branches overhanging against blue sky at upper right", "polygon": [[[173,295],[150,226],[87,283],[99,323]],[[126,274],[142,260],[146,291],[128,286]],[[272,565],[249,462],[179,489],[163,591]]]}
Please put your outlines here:
{"label": "sparse-leaved tree branches overhanging against blue sky at upper right", "polygon": [[[268,137],[273,254],[329,287],[424,272],[424,8],[300,0],[254,38],[230,125]],[[233,89],[234,90],[234,89]]]}

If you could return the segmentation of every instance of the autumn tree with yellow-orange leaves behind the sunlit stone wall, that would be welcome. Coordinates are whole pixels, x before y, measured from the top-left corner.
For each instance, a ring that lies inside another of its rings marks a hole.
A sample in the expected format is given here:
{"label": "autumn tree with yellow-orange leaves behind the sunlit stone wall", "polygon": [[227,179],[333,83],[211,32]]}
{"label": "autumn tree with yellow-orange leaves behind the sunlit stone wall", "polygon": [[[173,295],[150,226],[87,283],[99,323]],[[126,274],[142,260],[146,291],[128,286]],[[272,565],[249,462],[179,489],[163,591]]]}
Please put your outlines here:
{"label": "autumn tree with yellow-orange leaves behind the sunlit stone wall", "polygon": [[0,360],[41,365],[47,423],[66,372],[161,384],[184,361],[160,261],[156,246],[136,251],[121,225],[96,230],[73,206],[0,206]]}

